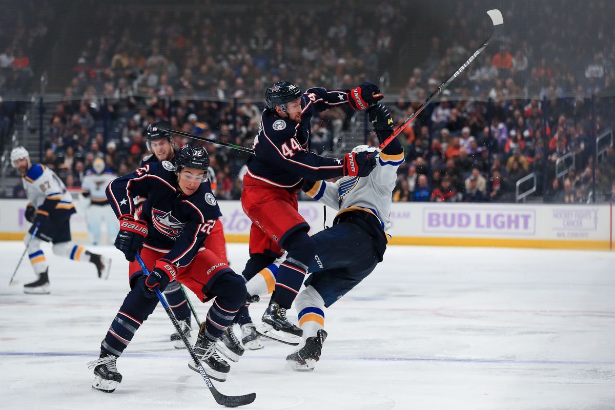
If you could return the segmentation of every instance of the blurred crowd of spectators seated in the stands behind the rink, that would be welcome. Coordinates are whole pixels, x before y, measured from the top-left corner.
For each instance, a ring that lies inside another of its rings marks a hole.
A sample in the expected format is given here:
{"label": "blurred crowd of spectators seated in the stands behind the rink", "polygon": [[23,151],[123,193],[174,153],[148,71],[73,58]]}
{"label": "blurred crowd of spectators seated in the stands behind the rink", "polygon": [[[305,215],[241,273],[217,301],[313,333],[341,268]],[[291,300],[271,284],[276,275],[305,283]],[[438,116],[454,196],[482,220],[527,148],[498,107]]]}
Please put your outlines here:
{"label": "blurred crowd of spectators seated in the stands behind the rink", "polygon": [[[116,173],[127,173],[146,154],[146,126],[161,119],[177,130],[250,146],[264,89],[279,79],[302,89],[350,89],[375,81],[400,123],[478,48],[483,40],[478,33],[490,33],[485,16],[467,15],[479,1],[450,3],[445,30],[419,42],[421,49],[413,47],[430,22],[413,19],[399,1],[336,0],[327,3],[327,18],[322,7],[309,5],[293,6],[301,12],[293,7],[258,12],[275,8],[268,1],[258,6],[238,2],[232,14],[216,2],[167,13],[144,5],[97,3],[89,10],[96,23],[67,49],[74,65],[61,73],[66,75],[63,101],[47,125],[43,162],[69,186],[79,186],[96,156],[105,157]],[[599,100],[594,120],[590,101],[582,97],[613,89],[615,47],[607,39],[614,29],[608,24],[608,2],[566,4],[516,10],[515,18],[549,25],[511,24],[445,90],[440,103],[407,128],[402,138],[407,161],[394,200],[510,202],[517,181],[532,172],[538,179],[536,195],[542,195],[546,176],[549,200],[588,200],[590,138],[611,125],[615,104]],[[11,27],[17,31],[0,29],[5,50],[0,66],[10,61],[10,67],[0,69],[9,68],[14,77],[26,72],[20,71],[23,58],[34,59],[28,51],[48,36],[49,9],[31,10],[36,18],[27,24],[15,19]],[[571,16],[583,16],[584,25],[571,25]],[[504,18],[511,17],[504,10]],[[595,33],[597,38],[591,37]],[[16,60],[22,62],[15,66]],[[490,98],[494,102],[486,102]],[[351,115],[339,108],[316,117],[312,148],[318,153],[333,148],[338,136],[350,132]],[[237,199],[245,154],[213,144],[207,149],[218,173],[218,196]],[[555,178],[555,161],[570,151],[574,169],[566,178]],[[597,168],[595,195],[610,198],[612,150]]]}

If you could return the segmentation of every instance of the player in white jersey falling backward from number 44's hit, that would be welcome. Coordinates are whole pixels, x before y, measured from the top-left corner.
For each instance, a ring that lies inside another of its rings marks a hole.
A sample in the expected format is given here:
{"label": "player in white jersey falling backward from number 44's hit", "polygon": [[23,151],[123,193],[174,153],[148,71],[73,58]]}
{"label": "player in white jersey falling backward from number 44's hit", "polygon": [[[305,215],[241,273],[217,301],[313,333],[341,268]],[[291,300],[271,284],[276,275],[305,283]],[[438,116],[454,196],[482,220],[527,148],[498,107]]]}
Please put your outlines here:
{"label": "player in white jersey falling backward from number 44's hit", "polygon": [[[368,109],[368,114],[378,139],[384,141],[393,128],[389,110],[384,104],[377,104]],[[352,151],[376,151],[376,148],[361,145]],[[335,183],[305,181],[304,192],[339,212],[332,227],[312,236],[318,251],[308,266],[306,288],[295,299],[305,344],[288,355],[290,368],[314,369],[327,337],[325,308],[358,285],[383,260],[391,239],[388,233],[391,195],[397,168],[403,160],[402,144],[395,139],[379,154],[376,168],[367,177],[344,176]],[[276,272],[277,264],[261,270],[247,283],[248,295],[271,293]]]}

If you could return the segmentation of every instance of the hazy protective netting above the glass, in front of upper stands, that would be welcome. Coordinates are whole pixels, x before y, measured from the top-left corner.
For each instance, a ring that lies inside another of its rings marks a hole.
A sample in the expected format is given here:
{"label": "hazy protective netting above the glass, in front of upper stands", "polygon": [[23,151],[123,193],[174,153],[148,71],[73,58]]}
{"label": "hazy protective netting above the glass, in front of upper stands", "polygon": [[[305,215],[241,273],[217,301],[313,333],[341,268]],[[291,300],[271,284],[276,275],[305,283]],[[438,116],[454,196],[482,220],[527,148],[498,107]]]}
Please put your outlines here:
{"label": "hazy protective netting above the glass, in front of upper stands", "polygon": [[379,82],[424,100],[491,33],[445,98],[615,95],[615,3],[606,0],[2,2],[0,96],[254,98]]}

